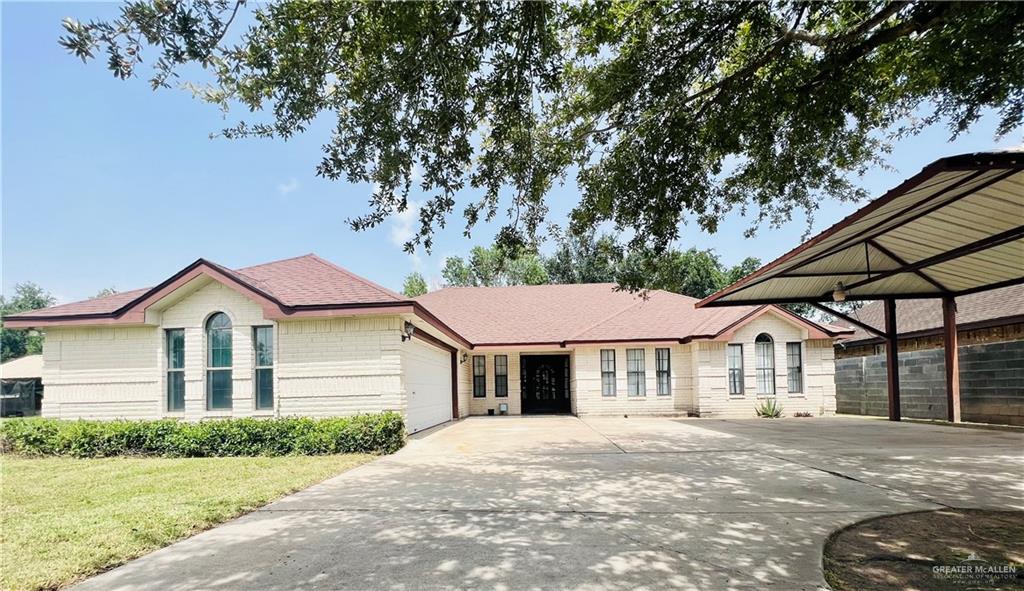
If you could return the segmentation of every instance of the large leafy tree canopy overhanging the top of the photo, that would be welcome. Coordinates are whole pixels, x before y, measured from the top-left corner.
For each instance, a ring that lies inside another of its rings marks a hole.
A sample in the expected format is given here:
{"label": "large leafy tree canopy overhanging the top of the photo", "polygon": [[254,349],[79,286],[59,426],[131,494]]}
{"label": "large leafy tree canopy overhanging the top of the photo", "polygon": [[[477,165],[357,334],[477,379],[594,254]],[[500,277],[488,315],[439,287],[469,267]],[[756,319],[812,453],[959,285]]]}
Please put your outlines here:
{"label": "large leafy tree canopy overhanging the top of the photo", "polygon": [[409,250],[467,187],[467,233],[501,216],[502,252],[535,248],[574,171],[574,231],[609,221],[659,254],[684,221],[714,231],[739,210],[753,231],[863,197],[856,173],[927,126],[1024,118],[1021,2],[132,0],[65,28],[121,78],[206,69],[199,97],[252,113],[226,137],[333,117],[317,173],[376,187],[354,228],[403,211],[418,167]]}

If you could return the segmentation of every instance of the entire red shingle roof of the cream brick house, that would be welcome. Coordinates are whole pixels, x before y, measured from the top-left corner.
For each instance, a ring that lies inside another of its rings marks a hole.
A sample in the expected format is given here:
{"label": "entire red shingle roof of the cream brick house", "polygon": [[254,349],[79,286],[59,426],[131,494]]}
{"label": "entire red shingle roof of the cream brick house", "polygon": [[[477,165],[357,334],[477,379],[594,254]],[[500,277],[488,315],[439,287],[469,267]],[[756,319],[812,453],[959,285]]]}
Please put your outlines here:
{"label": "entire red shingle roof of the cream brick house", "polygon": [[[308,254],[240,269],[200,259],[157,288],[33,310],[7,320],[38,326],[26,321],[59,325],[84,319],[124,319],[140,313],[154,298],[177,289],[175,282],[190,281],[189,277],[200,271],[227,276],[232,285],[241,284],[239,289],[254,290],[255,297],[268,299],[287,313],[303,311],[304,307],[318,311],[346,306],[415,306],[417,314],[423,315],[425,310],[424,318],[435,318],[442,323],[442,330],[451,330],[450,336],[461,337],[467,345],[713,337],[763,307],[697,309],[693,306],[697,300],[691,297],[651,291],[644,298],[618,291],[614,284],[446,288],[411,300]],[[435,324],[434,320],[428,322]],[[815,328],[836,332],[835,327]]]}

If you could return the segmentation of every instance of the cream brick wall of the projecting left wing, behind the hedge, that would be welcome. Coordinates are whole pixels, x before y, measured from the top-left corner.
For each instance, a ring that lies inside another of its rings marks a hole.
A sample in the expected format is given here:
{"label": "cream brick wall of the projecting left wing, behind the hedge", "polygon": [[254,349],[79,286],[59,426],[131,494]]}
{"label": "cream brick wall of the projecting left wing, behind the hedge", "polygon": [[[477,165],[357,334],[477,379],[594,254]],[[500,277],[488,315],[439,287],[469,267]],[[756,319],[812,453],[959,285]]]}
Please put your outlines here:
{"label": "cream brick wall of the projecting left wing, behind the hedge", "polygon": [[[203,282],[203,280],[198,280]],[[275,323],[255,302],[203,282],[147,310],[157,326],[46,331],[43,415],[65,419],[335,416],[404,410],[399,315]],[[231,409],[207,410],[206,332],[211,314],[231,319]],[[253,327],[274,327],[274,408],[255,409]],[[185,335],[185,409],[167,411],[164,331]]]}

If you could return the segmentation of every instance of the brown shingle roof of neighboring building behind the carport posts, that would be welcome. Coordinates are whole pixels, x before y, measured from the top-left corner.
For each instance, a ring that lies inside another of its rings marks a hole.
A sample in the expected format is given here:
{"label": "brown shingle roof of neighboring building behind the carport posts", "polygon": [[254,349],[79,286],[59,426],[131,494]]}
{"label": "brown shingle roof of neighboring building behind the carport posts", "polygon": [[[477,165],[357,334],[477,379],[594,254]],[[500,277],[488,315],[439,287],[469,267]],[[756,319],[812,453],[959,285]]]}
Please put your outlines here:
{"label": "brown shingle roof of neighboring building behind the carport posts", "polygon": [[[884,302],[871,302],[853,312],[856,320],[872,327],[883,327]],[[1024,322],[1024,285],[979,292],[956,298],[956,326],[972,330]],[[942,331],[942,300],[918,299],[896,301],[896,330],[900,337],[925,336]],[[856,328],[845,344],[858,341],[881,341],[863,329]]]}

